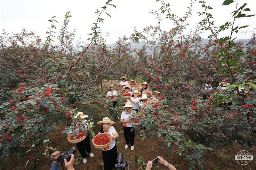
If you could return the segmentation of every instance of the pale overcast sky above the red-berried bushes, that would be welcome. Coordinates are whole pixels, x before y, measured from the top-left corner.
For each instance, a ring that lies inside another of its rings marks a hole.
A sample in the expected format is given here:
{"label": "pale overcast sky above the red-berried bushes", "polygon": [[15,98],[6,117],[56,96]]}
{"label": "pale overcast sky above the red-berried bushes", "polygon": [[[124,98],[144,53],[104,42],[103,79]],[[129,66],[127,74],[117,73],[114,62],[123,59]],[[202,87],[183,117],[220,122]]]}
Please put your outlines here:
{"label": "pale overcast sky above the red-berried bushes", "polygon": [[[19,33],[22,28],[33,30],[36,35],[39,35],[43,40],[46,37],[47,27],[50,26],[48,19],[56,16],[56,23],[59,30],[64,21],[66,11],[71,11],[71,22],[69,30],[76,28],[77,39],[81,37],[83,40],[88,38],[87,34],[91,33],[92,23],[95,22],[97,16],[94,14],[96,9],[100,9],[107,0],[1,0],[1,30],[12,31]],[[231,21],[231,12],[235,11],[235,3],[228,6],[221,6],[224,0],[206,0],[207,4],[213,7],[212,13],[216,26],[225,24],[228,20]],[[180,17],[184,16],[190,0],[166,0],[170,3],[171,10]],[[238,6],[245,2],[248,3],[247,14],[256,14],[256,0],[237,0]],[[151,10],[159,10],[160,2],[154,0],[113,0],[116,8],[108,6],[108,13],[111,17],[103,15],[105,18],[104,24],[100,24],[100,29],[103,34],[108,34],[108,43],[116,42],[118,37],[124,35],[129,36],[136,26],[138,31],[142,31],[146,26],[155,26],[157,21],[155,16],[150,14]],[[187,20],[189,23],[188,29],[195,29],[196,23],[202,20],[196,12],[201,12],[201,4],[199,0],[193,5],[192,16]],[[164,18],[164,17],[163,17]],[[256,17],[241,18],[235,21],[239,26],[249,25],[244,28],[244,31],[253,31],[256,27]],[[169,30],[173,28],[173,22],[165,19],[162,22],[162,29]],[[1,31],[2,33],[2,31]],[[228,32],[223,33],[224,36]],[[203,34],[202,37],[206,38],[208,34]],[[239,33],[235,34],[238,39],[248,39],[252,33]]]}

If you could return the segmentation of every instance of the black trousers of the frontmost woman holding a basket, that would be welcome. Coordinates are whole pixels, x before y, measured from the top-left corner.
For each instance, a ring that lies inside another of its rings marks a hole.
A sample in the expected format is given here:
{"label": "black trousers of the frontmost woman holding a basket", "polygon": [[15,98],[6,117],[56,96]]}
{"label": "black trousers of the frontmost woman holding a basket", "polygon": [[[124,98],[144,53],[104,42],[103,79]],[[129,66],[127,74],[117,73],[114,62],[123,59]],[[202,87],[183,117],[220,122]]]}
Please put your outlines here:
{"label": "black trousers of the frontmost woman holding a basket", "polygon": [[116,145],[114,146],[114,148],[108,151],[101,150],[101,153],[102,153],[102,159],[104,163],[104,170],[112,170],[112,168],[115,168],[116,157],[117,157]]}

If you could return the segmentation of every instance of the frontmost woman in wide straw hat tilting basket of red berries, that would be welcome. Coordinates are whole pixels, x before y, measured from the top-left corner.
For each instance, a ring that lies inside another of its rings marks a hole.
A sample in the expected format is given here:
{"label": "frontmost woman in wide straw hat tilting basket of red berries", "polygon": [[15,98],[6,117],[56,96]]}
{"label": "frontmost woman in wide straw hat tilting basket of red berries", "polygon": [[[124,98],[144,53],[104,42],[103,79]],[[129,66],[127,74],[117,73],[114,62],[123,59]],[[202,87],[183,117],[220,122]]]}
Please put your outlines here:
{"label": "frontmost woman in wide straw hat tilting basket of red berries", "polygon": [[100,129],[100,133],[110,134],[112,137],[111,143],[108,147],[102,149],[102,159],[105,170],[112,170],[116,165],[116,157],[117,157],[117,149],[116,149],[116,141],[119,137],[116,129],[113,126],[115,122],[111,121],[108,117],[104,117],[102,121],[97,122],[97,124],[102,125]]}

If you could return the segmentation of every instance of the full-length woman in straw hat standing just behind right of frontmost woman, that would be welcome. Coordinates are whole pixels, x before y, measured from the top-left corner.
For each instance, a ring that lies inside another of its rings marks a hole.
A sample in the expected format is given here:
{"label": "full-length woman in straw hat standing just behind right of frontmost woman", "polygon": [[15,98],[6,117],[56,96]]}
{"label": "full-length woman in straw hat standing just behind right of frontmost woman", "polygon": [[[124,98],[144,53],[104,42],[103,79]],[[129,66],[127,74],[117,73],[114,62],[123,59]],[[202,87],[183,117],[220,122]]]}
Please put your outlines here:
{"label": "full-length woman in straw hat standing just behind right of frontmost woman", "polygon": [[122,112],[121,119],[120,119],[120,123],[123,123],[123,126],[124,126],[124,139],[126,143],[126,145],[124,146],[124,149],[127,149],[129,144],[131,144],[131,151],[133,151],[135,133],[130,120],[130,115],[132,115],[131,109],[133,107],[131,102],[126,102],[124,107],[126,107],[126,111]]}

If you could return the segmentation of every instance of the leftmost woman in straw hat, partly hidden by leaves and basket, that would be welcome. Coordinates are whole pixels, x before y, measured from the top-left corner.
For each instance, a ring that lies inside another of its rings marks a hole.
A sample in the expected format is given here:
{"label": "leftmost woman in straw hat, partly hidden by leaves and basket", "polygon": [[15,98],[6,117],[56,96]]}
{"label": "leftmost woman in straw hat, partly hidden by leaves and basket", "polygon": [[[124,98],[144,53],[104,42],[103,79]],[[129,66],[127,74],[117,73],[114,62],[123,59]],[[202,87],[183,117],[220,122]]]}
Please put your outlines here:
{"label": "leftmost woman in straw hat, partly hidden by leaves and basket", "polygon": [[[85,120],[85,118],[88,117],[88,115],[84,115],[83,112],[78,112],[76,114],[76,116],[74,116],[75,118],[81,117],[80,120],[82,120],[82,125],[84,126],[85,129],[87,129],[87,131],[90,131],[90,128],[87,128],[88,126],[88,122],[87,120]],[[70,130],[71,132],[71,130]],[[90,157],[93,157],[93,153],[91,152],[91,143],[90,143],[90,137],[89,135],[87,137],[85,137],[85,139],[81,142],[76,143],[77,149],[80,152],[81,156],[84,158],[83,162],[84,164],[86,164],[87,162],[87,158],[86,158],[86,152],[89,154]],[[86,150],[86,152],[85,152]]]}

